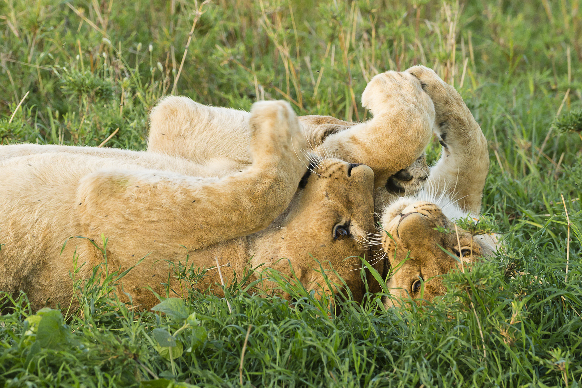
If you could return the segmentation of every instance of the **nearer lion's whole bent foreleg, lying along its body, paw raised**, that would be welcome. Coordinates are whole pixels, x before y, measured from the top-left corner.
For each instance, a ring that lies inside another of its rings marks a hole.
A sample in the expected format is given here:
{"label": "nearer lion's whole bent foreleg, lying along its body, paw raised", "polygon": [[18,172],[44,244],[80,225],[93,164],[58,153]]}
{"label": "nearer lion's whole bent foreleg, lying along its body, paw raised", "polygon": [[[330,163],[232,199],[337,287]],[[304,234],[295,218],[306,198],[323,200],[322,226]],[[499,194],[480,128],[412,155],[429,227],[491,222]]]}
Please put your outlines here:
{"label": "nearer lion's whole bent foreleg, lying along its body, paw raised", "polygon": [[226,178],[127,170],[87,175],[78,191],[86,233],[139,241],[140,231],[127,223],[140,220],[160,239],[193,250],[264,229],[288,206],[307,157],[294,149],[304,141],[288,103],[255,103],[249,125],[253,164]]}

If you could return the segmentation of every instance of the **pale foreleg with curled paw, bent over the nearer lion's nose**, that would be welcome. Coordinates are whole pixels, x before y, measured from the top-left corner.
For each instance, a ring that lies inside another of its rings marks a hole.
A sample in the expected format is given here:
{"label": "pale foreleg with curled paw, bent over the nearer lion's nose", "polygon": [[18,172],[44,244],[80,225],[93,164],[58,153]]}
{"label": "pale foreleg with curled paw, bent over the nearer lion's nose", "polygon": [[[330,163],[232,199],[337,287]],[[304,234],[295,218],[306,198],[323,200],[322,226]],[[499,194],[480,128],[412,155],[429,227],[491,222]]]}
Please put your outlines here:
{"label": "pale foreleg with curled paw, bent over the nearer lion's nose", "polygon": [[316,152],[370,166],[379,189],[423,155],[432,134],[434,107],[416,78],[396,71],[372,78],[362,105],[374,118],[330,135]]}

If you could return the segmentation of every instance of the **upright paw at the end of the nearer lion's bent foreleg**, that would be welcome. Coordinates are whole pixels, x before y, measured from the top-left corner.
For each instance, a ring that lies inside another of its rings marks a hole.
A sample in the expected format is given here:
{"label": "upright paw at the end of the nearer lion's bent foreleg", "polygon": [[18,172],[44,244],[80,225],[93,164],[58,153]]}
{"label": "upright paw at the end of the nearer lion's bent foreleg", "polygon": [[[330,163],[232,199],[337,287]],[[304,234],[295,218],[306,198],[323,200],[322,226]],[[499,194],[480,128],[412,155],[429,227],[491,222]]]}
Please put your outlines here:
{"label": "upright paw at the end of the nearer lion's bent foreleg", "polygon": [[297,116],[285,101],[261,101],[251,107],[251,157],[253,163],[274,159],[307,163],[306,140]]}

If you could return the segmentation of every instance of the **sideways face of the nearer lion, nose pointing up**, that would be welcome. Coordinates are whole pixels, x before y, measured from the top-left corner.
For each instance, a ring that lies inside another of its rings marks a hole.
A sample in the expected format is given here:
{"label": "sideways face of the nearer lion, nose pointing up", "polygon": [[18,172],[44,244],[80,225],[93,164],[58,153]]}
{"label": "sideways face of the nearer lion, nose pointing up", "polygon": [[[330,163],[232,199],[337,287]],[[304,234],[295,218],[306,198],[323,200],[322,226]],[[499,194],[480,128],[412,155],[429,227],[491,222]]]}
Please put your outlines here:
{"label": "sideways face of the nearer lion, nose pointing up", "polygon": [[[307,290],[331,292],[321,274],[331,267],[361,300],[364,284],[360,278],[361,260],[368,235],[374,228],[374,173],[364,164],[324,159],[308,171],[285,213],[269,227],[251,264],[266,263],[289,273],[288,258],[296,278]],[[273,228],[281,228],[273,233]],[[266,243],[266,244],[265,244]],[[268,257],[265,257],[267,253]],[[275,253],[276,256],[270,254]],[[331,283],[342,287],[333,271],[326,271]]]}

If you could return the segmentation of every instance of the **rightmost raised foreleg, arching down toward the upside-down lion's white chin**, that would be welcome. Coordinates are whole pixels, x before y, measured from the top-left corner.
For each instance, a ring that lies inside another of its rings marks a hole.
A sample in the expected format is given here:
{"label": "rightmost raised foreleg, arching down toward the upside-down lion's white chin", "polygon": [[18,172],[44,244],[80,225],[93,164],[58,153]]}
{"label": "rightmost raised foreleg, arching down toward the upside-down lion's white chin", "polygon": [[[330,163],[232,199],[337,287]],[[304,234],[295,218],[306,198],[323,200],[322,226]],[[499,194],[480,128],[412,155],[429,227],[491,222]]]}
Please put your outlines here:
{"label": "rightmost raised foreleg, arching down toward the upside-down lion's white chin", "polygon": [[414,66],[406,70],[420,80],[435,107],[441,160],[431,168],[425,188],[435,196],[445,193],[463,211],[479,214],[489,171],[487,140],[459,92],[433,70]]}

